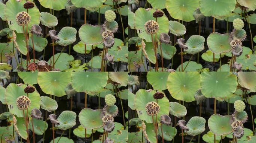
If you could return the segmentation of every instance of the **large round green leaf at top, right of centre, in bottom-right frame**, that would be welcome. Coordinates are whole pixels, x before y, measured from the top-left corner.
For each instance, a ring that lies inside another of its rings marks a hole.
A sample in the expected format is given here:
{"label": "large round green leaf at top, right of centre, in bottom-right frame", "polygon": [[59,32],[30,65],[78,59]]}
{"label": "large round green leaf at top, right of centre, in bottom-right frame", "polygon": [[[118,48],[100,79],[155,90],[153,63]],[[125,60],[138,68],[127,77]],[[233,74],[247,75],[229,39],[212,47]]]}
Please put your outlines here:
{"label": "large round green leaf at top, right of centre, in bottom-right frame", "polygon": [[201,91],[207,98],[224,99],[237,90],[237,85],[237,76],[231,72],[201,73]]}

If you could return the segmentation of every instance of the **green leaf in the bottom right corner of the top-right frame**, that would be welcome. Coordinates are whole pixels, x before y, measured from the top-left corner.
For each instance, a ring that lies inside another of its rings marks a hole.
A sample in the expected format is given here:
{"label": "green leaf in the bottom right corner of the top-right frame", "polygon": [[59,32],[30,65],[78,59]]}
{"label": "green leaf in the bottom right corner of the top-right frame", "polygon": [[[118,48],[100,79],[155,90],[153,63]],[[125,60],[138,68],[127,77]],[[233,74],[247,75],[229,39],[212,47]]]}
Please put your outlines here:
{"label": "green leaf in the bottom right corner of the top-right frame", "polygon": [[237,59],[236,62],[242,64],[242,70],[256,70],[256,55],[249,54],[246,59]]}

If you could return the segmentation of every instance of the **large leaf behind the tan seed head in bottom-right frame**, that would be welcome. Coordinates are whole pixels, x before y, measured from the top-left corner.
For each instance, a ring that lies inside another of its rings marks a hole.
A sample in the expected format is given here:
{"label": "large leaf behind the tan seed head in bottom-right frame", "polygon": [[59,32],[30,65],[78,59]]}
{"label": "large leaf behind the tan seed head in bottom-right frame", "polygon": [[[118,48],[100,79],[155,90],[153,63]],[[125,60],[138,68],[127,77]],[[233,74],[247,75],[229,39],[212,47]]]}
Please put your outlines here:
{"label": "large leaf behind the tan seed head in bottom-right frame", "polygon": [[[152,117],[147,115],[145,106],[148,102],[155,101],[153,95],[156,93],[155,90],[147,92],[144,89],[140,89],[135,94],[135,109],[138,112],[138,117],[141,120],[146,121],[147,123],[153,123]],[[158,121],[160,121],[160,116],[162,114],[169,114],[169,109],[166,108],[169,106],[169,100],[166,96],[162,99],[158,99],[158,105],[160,106],[160,112],[158,113]]]}

